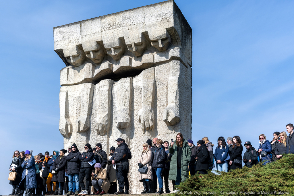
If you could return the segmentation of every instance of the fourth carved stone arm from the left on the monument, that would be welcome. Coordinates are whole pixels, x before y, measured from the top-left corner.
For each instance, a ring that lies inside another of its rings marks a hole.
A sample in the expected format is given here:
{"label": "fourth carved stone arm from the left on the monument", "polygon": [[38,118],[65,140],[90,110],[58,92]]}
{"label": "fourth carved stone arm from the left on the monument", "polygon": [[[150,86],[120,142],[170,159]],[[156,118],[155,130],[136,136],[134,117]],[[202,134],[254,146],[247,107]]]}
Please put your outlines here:
{"label": "fourth carved stone arm from the left on the monument", "polygon": [[121,78],[113,84],[113,100],[116,102],[116,127],[127,128],[130,125],[132,78]]}

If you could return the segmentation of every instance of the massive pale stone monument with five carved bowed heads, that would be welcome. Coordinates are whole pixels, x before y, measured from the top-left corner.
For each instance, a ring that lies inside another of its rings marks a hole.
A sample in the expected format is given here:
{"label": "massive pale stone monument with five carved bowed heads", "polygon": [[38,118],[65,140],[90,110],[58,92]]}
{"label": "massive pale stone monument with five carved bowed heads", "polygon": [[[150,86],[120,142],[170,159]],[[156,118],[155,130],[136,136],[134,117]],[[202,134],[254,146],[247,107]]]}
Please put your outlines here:
{"label": "massive pale stone monument with five carved bowed heads", "polygon": [[[174,1],[55,27],[64,146],[124,138],[130,193],[141,193],[137,161],[154,137],[191,138],[192,29]],[[170,189],[172,185],[170,182]]]}

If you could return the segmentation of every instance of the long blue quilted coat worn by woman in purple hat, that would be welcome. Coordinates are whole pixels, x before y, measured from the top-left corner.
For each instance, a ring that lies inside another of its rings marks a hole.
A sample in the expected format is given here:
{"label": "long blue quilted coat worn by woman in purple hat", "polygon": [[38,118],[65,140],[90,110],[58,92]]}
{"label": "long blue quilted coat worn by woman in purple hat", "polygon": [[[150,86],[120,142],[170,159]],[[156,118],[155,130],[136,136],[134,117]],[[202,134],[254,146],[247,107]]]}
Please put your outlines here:
{"label": "long blue quilted coat worn by woman in purple hat", "polygon": [[[37,180],[36,180],[36,167],[35,167],[35,159],[33,156],[29,160],[25,160],[21,167],[24,169],[21,176],[21,182],[19,183],[19,189],[24,190],[24,179],[26,179],[26,189],[37,188]],[[28,170],[28,174],[26,175],[26,170]]]}

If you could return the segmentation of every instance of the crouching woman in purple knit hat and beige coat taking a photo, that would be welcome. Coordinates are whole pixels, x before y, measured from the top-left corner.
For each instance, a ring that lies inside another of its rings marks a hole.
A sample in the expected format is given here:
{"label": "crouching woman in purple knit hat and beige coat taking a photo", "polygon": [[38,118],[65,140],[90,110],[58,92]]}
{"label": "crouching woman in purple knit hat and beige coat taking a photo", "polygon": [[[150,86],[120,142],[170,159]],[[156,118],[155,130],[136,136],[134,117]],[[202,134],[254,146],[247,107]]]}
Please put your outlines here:
{"label": "crouching woman in purple knit hat and beige coat taking a photo", "polygon": [[[101,168],[100,163],[95,164],[95,173],[92,173],[91,180],[93,185],[91,191],[94,192],[95,195],[107,194],[110,183],[107,178],[106,169]],[[95,192],[94,188],[97,190],[97,192]]]}

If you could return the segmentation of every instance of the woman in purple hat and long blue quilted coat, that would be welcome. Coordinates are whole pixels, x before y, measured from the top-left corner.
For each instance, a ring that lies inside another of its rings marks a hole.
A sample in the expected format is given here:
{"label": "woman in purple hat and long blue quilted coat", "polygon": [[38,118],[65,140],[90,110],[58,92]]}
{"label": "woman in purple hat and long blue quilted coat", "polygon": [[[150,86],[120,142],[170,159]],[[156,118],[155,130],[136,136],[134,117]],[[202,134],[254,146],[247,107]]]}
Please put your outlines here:
{"label": "woman in purple hat and long blue quilted coat", "polygon": [[21,182],[19,183],[19,187],[21,189],[26,190],[25,196],[30,196],[33,193],[33,189],[37,188],[37,180],[36,180],[36,163],[35,158],[31,156],[29,150],[26,150],[24,153],[26,159],[21,164],[21,167],[24,168],[21,176]]}

